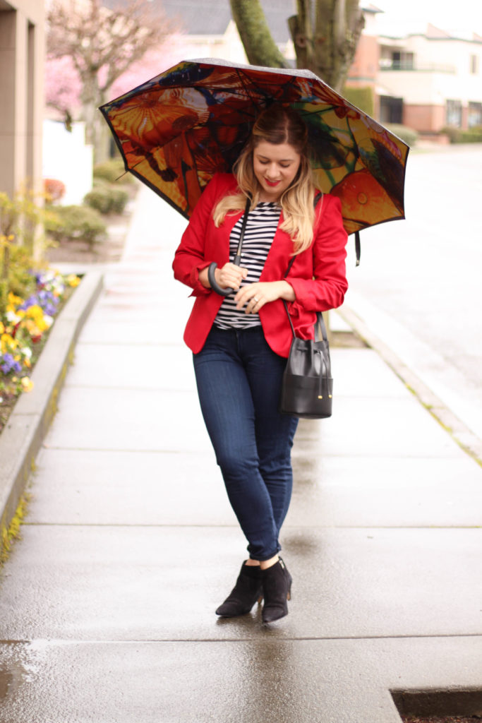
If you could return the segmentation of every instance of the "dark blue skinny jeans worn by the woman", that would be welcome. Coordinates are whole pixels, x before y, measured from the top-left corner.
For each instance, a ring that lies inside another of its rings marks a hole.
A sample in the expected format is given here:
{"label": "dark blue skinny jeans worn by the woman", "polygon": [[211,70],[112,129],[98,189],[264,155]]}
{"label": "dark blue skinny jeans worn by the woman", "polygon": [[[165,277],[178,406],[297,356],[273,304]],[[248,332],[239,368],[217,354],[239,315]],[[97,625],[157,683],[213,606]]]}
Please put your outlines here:
{"label": "dark blue skinny jeans worn by the woman", "polygon": [[270,560],[281,549],[291,500],[298,419],[277,411],[285,364],[260,326],[213,326],[194,354],[202,415],[253,560]]}

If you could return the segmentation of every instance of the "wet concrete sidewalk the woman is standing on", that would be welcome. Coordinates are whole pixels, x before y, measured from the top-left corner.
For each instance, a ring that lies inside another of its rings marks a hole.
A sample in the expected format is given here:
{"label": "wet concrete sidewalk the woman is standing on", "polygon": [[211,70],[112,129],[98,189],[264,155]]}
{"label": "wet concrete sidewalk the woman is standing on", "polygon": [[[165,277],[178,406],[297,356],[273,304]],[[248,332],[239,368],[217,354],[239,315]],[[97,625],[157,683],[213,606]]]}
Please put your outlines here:
{"label": "wet concrete sidewalk the woman is standing on", "polygon": [[482,688],[482,468],[370,348],[332,349],[334,416],[298,429],[288,617],[215,616],[246,542],[182,342],[184,225],[141,189],[77,344],[0,573],[0,722],[397,723],[392,690]]}

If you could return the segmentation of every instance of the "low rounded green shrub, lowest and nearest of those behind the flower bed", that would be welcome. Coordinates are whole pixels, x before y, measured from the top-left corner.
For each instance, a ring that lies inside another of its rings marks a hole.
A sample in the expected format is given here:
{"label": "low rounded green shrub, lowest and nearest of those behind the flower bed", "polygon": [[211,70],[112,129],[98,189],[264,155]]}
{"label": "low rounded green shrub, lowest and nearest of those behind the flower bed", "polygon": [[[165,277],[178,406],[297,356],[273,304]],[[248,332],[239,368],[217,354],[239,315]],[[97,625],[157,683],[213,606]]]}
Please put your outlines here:
{"label": "low rounded green shrub, lowest and nearest of those behind the flower bed", "polygon": [[106,235],[106,224],[100,213],[88,206],[59,206],[55,220],[51,219],[46,230],[56,241],[77,239],[93,246]]}

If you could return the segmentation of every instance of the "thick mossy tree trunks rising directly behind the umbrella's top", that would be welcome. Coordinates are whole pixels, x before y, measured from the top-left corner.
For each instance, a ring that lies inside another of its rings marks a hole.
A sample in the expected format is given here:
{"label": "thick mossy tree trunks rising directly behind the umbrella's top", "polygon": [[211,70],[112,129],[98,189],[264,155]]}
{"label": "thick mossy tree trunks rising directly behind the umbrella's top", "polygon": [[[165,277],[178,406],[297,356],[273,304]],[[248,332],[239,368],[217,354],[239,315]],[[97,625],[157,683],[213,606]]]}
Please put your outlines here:
{"label": "thick mossy tree trunks rising directly behind the umbrella's top", "polygon": [[[364,25],[358,0],[297,0],[296,6],[298,14],[288,19],[288,25],[297,67],[311,70],[340,91]],[[279,59],[271,51],[275,43],[260,1],[231,0],[231,10],[249,62],[285,67],[283,57]],[[262,19],[257,21],[256,34],[251,29],[253,18]]]}

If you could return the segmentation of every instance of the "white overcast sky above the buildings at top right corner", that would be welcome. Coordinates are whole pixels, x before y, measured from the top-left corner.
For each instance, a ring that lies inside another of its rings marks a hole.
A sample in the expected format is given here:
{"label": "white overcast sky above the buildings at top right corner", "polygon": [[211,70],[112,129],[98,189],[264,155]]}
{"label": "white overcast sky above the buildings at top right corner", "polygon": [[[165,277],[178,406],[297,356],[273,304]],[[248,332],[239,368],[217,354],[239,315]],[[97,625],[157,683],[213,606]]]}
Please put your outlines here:
{"label": "white overcast sky above the buildings at top right corner", "polygon": [[[371,0],[372,4],[384,11],[377,18],[381,32],[403,33],[405,21],[410,26],[417,23],[417,30],[423,30],[427,22],[443,30],[457,31],[469,35],[482,35],[482,0]],[[398,29],[398,30],[397,30]]]}

